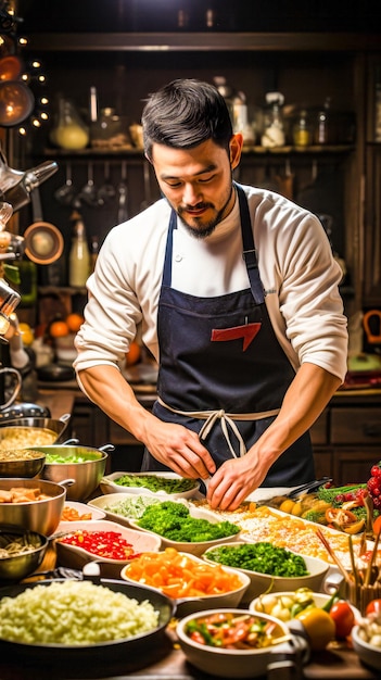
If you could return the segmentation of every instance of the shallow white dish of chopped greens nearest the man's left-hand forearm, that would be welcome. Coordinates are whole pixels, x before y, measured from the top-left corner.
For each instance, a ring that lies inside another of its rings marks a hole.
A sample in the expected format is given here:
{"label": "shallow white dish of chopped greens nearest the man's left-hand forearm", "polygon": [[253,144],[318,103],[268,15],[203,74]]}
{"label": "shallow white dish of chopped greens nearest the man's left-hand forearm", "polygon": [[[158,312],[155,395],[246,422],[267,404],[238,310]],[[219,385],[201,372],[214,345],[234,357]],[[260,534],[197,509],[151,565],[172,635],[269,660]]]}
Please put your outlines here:
{"label": "shallow white dish of chopped greens nearest the man's left-hand forearm", "polygon": [[200,489],[196,479],[175,473],[112,473],[100,480],[102,493],[144,493],[170,499],[191,499]]}

